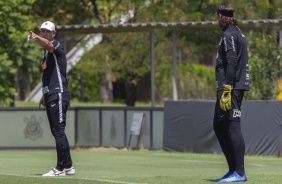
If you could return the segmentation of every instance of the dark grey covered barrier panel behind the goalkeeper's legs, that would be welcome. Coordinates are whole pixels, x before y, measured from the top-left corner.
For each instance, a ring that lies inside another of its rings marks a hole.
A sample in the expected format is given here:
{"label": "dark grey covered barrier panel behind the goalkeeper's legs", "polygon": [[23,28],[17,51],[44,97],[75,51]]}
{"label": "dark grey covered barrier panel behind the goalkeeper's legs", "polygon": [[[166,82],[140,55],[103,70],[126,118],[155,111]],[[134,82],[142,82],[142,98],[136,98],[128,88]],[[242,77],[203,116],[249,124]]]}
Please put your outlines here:
{"label": "dark grey covered barrier panel behind the goalkeeper's legs", "polygon": [[[213,131],[214,106],[215,101],[166,101],[164,150],[221,153]],[[281,102],[244,101],[241,125],[246,154],[278,154],[282,126]]]}

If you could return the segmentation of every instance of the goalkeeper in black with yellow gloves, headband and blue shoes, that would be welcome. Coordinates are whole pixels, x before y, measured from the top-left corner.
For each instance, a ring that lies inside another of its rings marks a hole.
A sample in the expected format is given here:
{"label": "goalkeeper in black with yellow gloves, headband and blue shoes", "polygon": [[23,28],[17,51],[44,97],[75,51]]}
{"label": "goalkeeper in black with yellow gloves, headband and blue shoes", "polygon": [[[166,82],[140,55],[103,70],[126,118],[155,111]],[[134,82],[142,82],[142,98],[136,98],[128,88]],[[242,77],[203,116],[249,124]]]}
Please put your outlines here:
{"label": "goalkeeper in black with yellow gloves, headband and blue shoes", "polygon": [[227,173],[215,181],[246,181],[245,142],[241,132],[241,103],[249,87],[248,51],[244,34],[231,4],[222,3],[216,13],[223,31],[216,59],[217,100],[213,127],[227,160]]}

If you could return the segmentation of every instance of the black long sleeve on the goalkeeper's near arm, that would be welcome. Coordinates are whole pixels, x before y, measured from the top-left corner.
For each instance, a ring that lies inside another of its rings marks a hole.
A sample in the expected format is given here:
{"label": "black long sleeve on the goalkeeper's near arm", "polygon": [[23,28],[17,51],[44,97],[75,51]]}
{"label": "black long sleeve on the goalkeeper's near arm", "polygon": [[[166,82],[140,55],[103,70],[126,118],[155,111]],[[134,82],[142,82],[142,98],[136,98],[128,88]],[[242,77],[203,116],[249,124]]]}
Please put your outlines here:
{"label": "black long sleeve on the goalkeeper's near arm", "polygon": [[227,59],[226,84],[233,85],[237,66],[237,37],[225,32],[223,42]]}

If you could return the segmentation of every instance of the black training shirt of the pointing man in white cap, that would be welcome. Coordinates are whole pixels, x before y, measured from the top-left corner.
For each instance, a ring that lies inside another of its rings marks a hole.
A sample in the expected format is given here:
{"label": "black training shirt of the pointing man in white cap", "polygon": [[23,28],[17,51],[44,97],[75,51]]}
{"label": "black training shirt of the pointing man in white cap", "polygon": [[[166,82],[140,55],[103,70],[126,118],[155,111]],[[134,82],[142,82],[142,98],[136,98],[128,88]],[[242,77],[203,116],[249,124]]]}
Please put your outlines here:
{"label": "black training shirt of the pointing man in white cap", "polygon": [[43,94],[68,92],[68,82],[66,78],[67,60],[63,45],[57,40],[53,40],[53,53],[44,50],[42,62],[42,92]]}

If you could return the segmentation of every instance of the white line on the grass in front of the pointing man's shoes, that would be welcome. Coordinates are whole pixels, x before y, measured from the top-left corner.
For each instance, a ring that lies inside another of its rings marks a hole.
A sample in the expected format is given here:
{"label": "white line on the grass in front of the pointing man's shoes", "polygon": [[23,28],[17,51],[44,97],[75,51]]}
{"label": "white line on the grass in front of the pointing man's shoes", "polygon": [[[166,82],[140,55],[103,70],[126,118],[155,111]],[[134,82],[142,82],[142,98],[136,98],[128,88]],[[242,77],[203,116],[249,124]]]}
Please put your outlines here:
{"label": "white line on the grass in front of the pointing man's shoes", "polygon": [[33,175],[24,175],[24,174],[6,174],[0,173],[3,176],[19,176],[25,178],[60,178],[60,179],[73,179],[73,180],[87,180],[87,181],[100,181],[105,183],[117,183],[117,184],[146,184],[146,183],[130,183],[130,182],[123,182],[123,181],[114,181],[114,180],[104,180],[104,179],[95,179],[95,178],[73,178],[73,177],[43,177],[43,176],[33,176]]}

